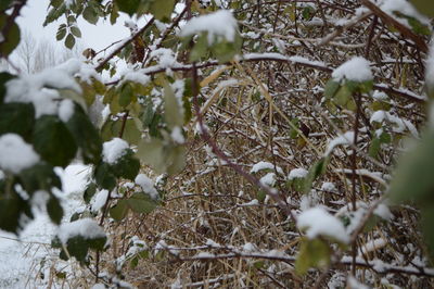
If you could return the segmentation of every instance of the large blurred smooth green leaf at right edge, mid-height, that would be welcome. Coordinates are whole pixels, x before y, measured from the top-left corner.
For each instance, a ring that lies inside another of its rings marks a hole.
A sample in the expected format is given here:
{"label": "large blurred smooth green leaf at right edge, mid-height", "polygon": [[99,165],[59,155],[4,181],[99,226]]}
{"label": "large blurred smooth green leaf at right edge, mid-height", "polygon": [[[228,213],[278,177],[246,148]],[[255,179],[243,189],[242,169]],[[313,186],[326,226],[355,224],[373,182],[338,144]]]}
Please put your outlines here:
{"label": "large blurred smooth green leaf at right edge, mid-height", "polygon": [[391,184],[391,199],[397,203],[413,200],[419,204],[434,203],[434,131],[426,131],[420,143],[398,162]]}

